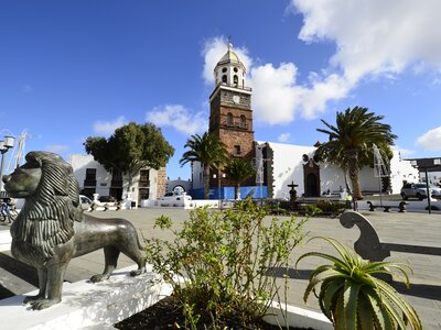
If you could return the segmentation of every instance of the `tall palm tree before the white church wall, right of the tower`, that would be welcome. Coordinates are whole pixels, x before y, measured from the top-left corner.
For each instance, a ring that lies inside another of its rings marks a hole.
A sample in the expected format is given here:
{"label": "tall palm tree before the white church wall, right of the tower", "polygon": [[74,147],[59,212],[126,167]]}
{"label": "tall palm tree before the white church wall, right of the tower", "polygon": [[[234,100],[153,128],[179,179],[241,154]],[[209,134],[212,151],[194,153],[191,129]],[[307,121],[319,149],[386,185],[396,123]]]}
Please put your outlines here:
{"label": "tall palm tree before the white church wall, right of the tower", "polygon": [[329,135],[329,141],[319,146],[318,155],[323,161],[337,164],[345,173],[347,169],[356,199],[363,198],[358,174],[363,165],[372,164],[373,144],[389,154],[389,146],[397,139],[390,125],[380,122],[384,116],[367,111],[367,108],[347,108],[337,112],[335,125],[322,119],[327,129],[318,129]]}

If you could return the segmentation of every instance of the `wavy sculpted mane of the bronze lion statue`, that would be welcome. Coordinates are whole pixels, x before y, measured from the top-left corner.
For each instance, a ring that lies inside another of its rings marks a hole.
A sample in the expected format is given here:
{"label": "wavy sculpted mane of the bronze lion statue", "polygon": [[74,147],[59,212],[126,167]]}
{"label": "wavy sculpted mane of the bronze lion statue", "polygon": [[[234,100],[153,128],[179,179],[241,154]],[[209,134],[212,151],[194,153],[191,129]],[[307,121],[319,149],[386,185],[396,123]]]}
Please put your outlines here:
{"label": "wavy sculpted mane of the bronze lion statue", "polygon": [[49,152],[30,152],[30,165],[42,170],[35,193],[28,197],[11,234],[20,242],[22,253],[43,262],[51,258],[54,246],[74,235],[74,221],[83,220],[79,187],[72,166],[61,156]]}

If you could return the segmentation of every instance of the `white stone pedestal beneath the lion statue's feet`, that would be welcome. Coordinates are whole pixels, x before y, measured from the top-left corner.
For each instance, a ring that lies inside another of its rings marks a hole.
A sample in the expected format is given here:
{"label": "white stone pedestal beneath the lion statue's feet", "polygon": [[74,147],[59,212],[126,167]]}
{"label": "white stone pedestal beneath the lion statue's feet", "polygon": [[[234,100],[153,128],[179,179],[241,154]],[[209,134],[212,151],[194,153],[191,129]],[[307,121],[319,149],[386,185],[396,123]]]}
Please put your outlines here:
{"label": "white stone pedestal beneath the lion statue's feet", "polygon": [[[154,273],[130,276],[136,265],[118,270],[103,283],[65,283],[63,301],[43,310],[22,305],[24,296],[0,300],[2,330],[112,329],[112,324],[171,294]],[[35,295],[36,292],[30,293]]]}

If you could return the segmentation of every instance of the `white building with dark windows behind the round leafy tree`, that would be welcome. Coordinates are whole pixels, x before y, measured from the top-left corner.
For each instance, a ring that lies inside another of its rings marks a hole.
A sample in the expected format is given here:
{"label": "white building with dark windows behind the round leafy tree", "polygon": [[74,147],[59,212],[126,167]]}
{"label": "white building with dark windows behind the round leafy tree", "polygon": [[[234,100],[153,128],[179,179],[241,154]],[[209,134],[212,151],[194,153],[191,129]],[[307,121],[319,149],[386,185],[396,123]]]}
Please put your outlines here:
{"label": "white building with dark windows behind the round leafy tree", "polygon": [[165,167],[141,169],[132,180],[130,191],[128,180],[121,173],[108,173],[92,155],[74,154],[71,165],[78,180],[80,194],[93,198],[94,194],[112,196],[118,200],[135,200],[138,205],[143,199],[157,199],[165,194]]}

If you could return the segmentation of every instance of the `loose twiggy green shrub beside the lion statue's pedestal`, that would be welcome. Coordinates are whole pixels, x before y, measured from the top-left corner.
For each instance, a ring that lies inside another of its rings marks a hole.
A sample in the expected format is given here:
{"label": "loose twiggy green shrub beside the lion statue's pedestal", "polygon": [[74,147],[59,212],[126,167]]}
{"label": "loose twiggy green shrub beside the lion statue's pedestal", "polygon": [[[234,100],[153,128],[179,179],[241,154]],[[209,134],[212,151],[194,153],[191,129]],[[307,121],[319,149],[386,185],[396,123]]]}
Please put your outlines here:
{"label": "loose twiggy green shrub beside the lion statue's pedestal", "polygon": [[224,329],[227,320],[247,324],[266,314],[280,289],[271,270],[288,268],[304,220],[265,216],[246,200],[237,211],[196,209],[180,231],[169,218],[157,219],[175,238],[147,240],[147,258],[172,284],[185,327]]}

